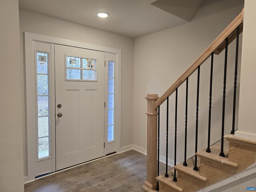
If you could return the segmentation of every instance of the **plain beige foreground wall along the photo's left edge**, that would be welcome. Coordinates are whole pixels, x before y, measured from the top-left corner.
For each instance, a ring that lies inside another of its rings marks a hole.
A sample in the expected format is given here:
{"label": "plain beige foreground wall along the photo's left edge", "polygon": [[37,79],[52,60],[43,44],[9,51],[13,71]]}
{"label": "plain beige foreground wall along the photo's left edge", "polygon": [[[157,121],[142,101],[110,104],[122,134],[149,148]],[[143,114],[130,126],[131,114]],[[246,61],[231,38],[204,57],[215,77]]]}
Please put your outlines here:
{"label": "plain beige foreground wall along the photo's left edge", "polygon": [[23,192],[23,75],[18,0],[0,0],[0,191]]}

